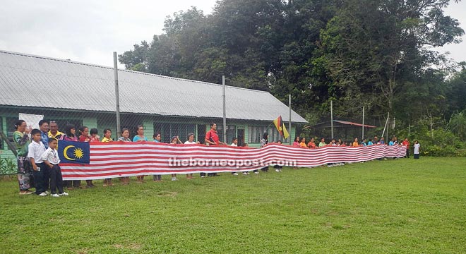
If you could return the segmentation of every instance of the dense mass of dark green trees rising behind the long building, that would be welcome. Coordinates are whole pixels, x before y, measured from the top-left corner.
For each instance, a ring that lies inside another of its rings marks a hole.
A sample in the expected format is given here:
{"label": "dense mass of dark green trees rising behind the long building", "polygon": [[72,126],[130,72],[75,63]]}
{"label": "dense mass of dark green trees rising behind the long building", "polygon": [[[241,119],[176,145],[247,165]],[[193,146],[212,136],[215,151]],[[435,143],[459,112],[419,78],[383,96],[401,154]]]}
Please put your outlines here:
{"label": "dense mass of dark green trees rising behind the long building", "polygon": [[[401,131],[453,131],[466,114],[466,63],[436,51],[464,30],[449,0],[220,0],[165,19],[152,42],[119,56],[134,71],[271,92],[309,123],[388,112]],[[466,59],[465,59],[466,60]],[[462,112],[463,111],[463,112]],[[461,113],[462,112],[462,113]],[[431,123],[433,122],[433,123]],[[456,128],[455,130],[457,130]],[[455,131],[453,131],[455,132]],[[465,133],[455,136],[465,140]]]}

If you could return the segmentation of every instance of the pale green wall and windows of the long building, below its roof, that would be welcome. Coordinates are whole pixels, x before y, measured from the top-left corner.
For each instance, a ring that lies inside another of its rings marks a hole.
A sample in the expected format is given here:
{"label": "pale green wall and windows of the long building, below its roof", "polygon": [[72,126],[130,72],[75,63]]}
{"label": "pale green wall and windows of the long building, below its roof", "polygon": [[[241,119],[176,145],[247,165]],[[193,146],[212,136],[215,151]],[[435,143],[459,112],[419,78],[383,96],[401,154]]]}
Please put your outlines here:
{"label": "pale green wall and windows of the long building, below its roof", "polygon": [[[0,174],[16,174],[17,166],[13,152],[8,149],[8,142],[14,146],[13,132],[15,124],[18,121],[18,115],[34,114],[42,115],[43,119],[49,122],[49,127],[55,131],[64,133],[66,126],[71,125],[76,129],[76,135],[80,135],[80,129],[85,127],[90,131],[92,128],[97,129],[97,135],[100,140],[104,137],[104,130],[112,131],[112,140],[117,140],[120,133],[117,133],[117,117],[115,112],[99,111],[73,111],[68,109],[26,109],[21,107],[8,109],[0,107],[0,126],[1,131],[7,137],[7,140],[0,140]],[[160,133],[162,143],[170,143],[174,136],[184,143],[188,140],[189,133],[194,133],[195,141],[205,144],[205,134],[210,130],[210,123],[217,124],[217,133],[220,141],[232,144],[234,138],[238,139],[239,146],[259,147],[263,133],[269,133],[269,142],[289,142],[280,136],[272,121],[246,121],[227,119],[226,140],[223,140],[222,119],[215,118],[189,118],[179,116],[160,116],[151,114],[120,114],[121,130],[129,130],[131,140],[138,135],[138,126],[143,126],[144,135],[149,141],[153,141],[155,135]],[[37,125],[38,123],[28,122],[28,126]],[[294,125],[295,126],[295,125]],[[36,126],[37,128],[37,126]],[[293,127],[294,129],[295,127]]]}

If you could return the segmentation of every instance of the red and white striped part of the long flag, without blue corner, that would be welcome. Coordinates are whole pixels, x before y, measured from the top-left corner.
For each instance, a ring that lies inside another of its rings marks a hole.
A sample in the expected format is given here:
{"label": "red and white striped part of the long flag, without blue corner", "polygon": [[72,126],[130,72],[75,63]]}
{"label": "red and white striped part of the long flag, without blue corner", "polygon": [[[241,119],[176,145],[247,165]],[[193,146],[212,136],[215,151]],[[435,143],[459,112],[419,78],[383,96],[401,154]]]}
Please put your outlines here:
{"label": "red and white striped part of the long flag, without blue corner", "polygon": [[316,167],[328,163],[364,162],[405,155],[406,147],[398,145],[308,149],[273,143],[258,149],[111,142],[90,143],[90,164],[60,164],[60,167],[64,180],[90,180],[153,174],[251,171],[274,164]]}

